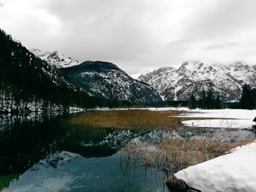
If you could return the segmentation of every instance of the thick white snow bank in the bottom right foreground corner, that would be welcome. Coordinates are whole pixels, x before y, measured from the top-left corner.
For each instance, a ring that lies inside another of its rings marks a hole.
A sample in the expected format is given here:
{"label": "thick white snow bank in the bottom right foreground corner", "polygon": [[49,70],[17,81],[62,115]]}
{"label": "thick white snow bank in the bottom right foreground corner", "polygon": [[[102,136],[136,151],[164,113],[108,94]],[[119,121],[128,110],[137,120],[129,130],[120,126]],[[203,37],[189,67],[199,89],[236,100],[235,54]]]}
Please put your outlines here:
{"label": "thick white snow bank in the bottom right foreground corner", "polygon": [[200,191],[256,191],[256,142],[174,174]]}

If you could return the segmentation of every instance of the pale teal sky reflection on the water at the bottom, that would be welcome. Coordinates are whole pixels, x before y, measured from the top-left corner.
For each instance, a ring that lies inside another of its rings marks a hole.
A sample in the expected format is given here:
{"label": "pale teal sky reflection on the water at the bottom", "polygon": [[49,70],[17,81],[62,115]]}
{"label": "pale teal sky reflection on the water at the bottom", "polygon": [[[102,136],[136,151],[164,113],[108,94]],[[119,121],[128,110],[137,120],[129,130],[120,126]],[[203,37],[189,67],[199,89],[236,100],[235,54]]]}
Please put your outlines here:
{"label": "pale teal sky reflection on the water at the bottom", "polygon": [[[56,154],[55,154],[56,155]],[[150,167],[120,164],[120,154],[104,158],[83,158],[57,153],[55,166],[43,160],[26,171],[4,191],[167,191],[165,174]]]}

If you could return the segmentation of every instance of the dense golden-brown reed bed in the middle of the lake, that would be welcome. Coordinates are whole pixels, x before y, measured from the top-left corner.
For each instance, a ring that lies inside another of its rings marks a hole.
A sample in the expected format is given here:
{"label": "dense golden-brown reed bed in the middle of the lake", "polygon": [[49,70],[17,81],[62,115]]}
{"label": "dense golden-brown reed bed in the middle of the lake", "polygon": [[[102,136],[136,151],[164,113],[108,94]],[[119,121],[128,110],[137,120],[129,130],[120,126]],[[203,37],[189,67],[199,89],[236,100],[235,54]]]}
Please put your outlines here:
{"label": "dense golden-brown reed bed in the middle of the lake", "polygon": [[181,111],[113,110],[86,112],[70,120],[72,125],[86,125],[105,128],[176,128]]}

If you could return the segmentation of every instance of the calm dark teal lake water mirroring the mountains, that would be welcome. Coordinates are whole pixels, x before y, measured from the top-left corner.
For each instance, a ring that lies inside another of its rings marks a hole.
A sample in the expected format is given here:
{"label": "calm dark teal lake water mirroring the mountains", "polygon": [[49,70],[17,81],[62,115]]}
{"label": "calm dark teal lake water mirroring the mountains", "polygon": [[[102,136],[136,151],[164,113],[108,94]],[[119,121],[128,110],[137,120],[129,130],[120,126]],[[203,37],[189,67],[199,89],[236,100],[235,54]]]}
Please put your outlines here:
{"label": "calm dark teal lake water mirroring the mountains", "polygon": [[255,137],[253,131],[180,128],[178,131],[68,126],[72,115],[1,117],[0,189],[3,191],[168,191],[168,174],[127,161],[132,139]]}

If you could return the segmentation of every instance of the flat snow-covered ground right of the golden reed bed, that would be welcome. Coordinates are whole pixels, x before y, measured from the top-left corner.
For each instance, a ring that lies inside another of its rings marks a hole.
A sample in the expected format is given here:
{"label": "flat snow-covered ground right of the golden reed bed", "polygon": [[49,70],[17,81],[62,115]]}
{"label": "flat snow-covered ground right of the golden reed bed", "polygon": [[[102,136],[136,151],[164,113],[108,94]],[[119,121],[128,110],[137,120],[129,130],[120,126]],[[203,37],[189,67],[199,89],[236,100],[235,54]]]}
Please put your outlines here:
{"label": "flat snow-covered ground right of the golden reed bed", "polygon": [[[184,120],[184,126],[214,128],[252,128],[256,123],[256,110],[189,110],[178,117],[188,118],[222,118],[211,120]],[[224,118],[224,119],[223,119]]]}

